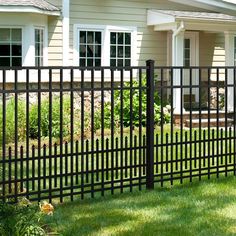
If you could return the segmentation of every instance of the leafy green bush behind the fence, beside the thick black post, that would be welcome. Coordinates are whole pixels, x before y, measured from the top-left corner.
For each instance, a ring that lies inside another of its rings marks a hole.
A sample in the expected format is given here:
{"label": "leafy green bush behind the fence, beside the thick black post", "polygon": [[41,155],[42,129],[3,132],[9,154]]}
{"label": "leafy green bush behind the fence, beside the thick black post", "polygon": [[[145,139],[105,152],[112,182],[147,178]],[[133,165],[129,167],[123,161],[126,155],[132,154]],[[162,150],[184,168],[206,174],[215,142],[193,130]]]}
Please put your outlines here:
{"label": "leafy green bush behind the fence, beside the thick black post", "polygon": [[[146,90],[142,90],[140,93],[139,89],[137,89],[140,84],[138,80],[133,81],[133,87],[136,89],[129,89],[130,83],[124,83],[125,90],[115,91],[114,93],[114,122],[115,127],[123,125],[124,127],[129,127],[131,125],[131,115],[132,115],[132,125],[139,126],[140,120],[143,126],[146,125],[146,109],[147,109],[147,94]],[[146,87],[146,79],[142,79],[142,87]],[[127,89],[128,88],[128,89]],[[123,94],[122,94],[123,93]],[[141,97],[140,97],[141,96]],[[132,112],[130,111],[130,98],[132,97]],[[123,104],[121,109],[121,98],[123,98]],[[140,102],[142,106],[141,117],[140,113]],[[155,112],[155,124],[159,125],[161,123],[161,101],[158,96],[158,93],[154,94],[154,112]],[[122,112],[123,111],[123,112]],[[120,124],[121,112],[123,113],[123,124]],[[97,111],[97,113],[101,113],[101,111]],[[100,117],[100,114],[96,114],[95,117]],[[163,121],[164,123],[170,122],[170,108],[164,109],[163,112]],[[104,125],[105,128],[111,127],[111,102],[107,102],[104,106]],[[97,119],[96,128],[99,129],[101,127],[101,119]]]}

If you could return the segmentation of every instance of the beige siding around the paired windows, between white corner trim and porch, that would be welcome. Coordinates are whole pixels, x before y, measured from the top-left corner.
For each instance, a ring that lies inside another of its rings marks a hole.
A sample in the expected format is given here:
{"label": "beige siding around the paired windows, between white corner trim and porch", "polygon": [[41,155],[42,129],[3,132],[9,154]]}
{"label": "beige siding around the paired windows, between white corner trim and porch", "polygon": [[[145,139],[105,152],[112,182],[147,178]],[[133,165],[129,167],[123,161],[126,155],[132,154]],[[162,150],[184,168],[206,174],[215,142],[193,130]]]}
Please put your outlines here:
{"label": "beige siding around the paired windows, between white corner trim and porch", "polygon": [[138,64],[154,59],[166,65],[167,33],[154,32],[147,27],[147,9],[199,10],[166,0],[71,0],[70,10],[70,60],[73,61],[75,24],[135,26],[137,35]]}

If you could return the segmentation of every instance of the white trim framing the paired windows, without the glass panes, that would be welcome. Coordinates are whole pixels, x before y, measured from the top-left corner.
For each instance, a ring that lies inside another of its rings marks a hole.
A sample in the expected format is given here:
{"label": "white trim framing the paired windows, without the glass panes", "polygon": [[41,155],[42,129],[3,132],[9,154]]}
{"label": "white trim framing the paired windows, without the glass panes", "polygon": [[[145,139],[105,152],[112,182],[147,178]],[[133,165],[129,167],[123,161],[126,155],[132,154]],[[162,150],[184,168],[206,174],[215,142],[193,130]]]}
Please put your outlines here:
{"label": "white trim framing the paired windows, without the glass panes", "polygon": [[73,42],[73,64],[79,66],[79,30],[91,30],[102,32],[102,55],[101,66],[110,66],[110,32],[131,33],[131,66],[137,66],[137,27],[131,26],[111,26],[111,25],[74,25],[74,42]]}

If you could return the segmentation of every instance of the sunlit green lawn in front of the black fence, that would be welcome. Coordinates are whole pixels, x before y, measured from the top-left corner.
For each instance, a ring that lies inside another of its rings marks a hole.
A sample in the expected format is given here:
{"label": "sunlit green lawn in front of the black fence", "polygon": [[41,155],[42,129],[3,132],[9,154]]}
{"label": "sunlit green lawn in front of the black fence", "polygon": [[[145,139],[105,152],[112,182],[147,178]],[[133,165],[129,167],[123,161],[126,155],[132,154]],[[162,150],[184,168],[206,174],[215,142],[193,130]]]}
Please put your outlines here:
{"label": "sunlit green lawn in front of the black fence", "polygon": [[56,205],[52,231],[76,235],[236,235],[236,179]]}

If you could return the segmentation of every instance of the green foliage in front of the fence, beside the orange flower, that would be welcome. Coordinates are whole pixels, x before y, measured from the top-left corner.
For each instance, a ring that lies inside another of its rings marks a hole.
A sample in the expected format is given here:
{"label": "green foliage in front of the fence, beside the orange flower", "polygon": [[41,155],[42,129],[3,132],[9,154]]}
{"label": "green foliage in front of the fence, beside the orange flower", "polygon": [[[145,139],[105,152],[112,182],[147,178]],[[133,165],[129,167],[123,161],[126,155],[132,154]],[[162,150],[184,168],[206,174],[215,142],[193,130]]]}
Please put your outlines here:
{"label": "green foliage in front of the fence, beside the orange flower", "polygon": [[26,199],[18,204],[0,203],[0,235],[31,236],[46,235],[40,226],[38,207],[31,205]]}

